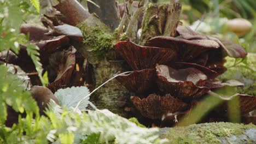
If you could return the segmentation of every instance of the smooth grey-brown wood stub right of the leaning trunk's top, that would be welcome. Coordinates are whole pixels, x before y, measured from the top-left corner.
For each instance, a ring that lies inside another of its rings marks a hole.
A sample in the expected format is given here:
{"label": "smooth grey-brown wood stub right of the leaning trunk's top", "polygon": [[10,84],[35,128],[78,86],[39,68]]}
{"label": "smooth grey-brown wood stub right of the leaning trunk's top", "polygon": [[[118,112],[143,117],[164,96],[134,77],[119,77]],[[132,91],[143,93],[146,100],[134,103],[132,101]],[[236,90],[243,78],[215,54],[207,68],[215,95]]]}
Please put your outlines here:
{"label": "smooth grey-brown wood stub right of the leaning trunk's top", "polygon": [[112,31],[118,27],[120,16],[115,0],[92,0],[95,4],[87,2],[90,13],[95,13],[100,17],[101,21],[105,23]]}

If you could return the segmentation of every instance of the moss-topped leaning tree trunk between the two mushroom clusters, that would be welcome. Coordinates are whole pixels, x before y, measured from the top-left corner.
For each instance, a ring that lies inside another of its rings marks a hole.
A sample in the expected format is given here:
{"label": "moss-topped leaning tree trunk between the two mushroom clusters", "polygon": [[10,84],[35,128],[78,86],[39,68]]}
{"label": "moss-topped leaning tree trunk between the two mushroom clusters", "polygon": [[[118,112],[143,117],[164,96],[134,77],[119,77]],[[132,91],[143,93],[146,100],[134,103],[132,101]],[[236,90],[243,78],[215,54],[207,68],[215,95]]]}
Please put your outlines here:
{"label": "moss-topped leaning tree trunk between the two mushroom clusters", "polygon": [[[118,61],[115,55],[114,44],[117,40],[97,16],[91,15],[77,27],[83,32],[84,43],[74,46],[93,65],[96,88],[114,74],[126,71],[123,61]],[[126,117],[124,110],[118,106],[118,97],[129,97],[129,92],[114,79],[98,89],[91,100],[98,109],[108,109]]]}

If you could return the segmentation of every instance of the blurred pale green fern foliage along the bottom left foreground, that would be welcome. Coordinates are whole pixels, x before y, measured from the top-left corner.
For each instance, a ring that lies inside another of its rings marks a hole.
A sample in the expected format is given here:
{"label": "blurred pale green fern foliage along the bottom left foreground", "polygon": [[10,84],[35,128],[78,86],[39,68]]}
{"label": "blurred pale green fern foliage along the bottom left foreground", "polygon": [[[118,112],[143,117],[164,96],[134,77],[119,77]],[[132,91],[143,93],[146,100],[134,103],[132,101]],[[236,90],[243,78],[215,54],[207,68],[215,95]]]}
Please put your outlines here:
{"label": "blurred pale green fern foliage along the bottom left foreground", "polygon": [[[7,71],[7,68],[4,66],[1,66],[0,70],[2,70],[2,67]],[[10,91],[5,85],[0,85],[0,88],[4,92]],[[19,88],[19,86],[15,87],[18,90]],[[66,92],[69,94],[75,93],[73,90],[74,88],[69,88],[66,89]],[[22,94],[22,92],[18,92]],[[27,92],[23,93],[28,94]],[[26,103],[26,106],[33,104],[33,108],[38,113],[38,107],[32,98],[16,97],[17,95],[19,96],[18,93],[11,94],[16,98],[16,101],[21,101],[22,104]],[[28,94],[28,96],[30,95]],[[77,101],[76,99],[78,98],[74,98],[74,101]],[[0,99],[0,102],[3,103],[3,99]],[[26,106],[25,110],[27,113],[33,111],[33,109],[28,109]],[[63,107],[63,105],[61,106]],[[159,129],[138,127],[135,123],[115,115],[108,110],[87,110],[86,113],[82,113],[79,109],[76,111],[69,109],[70,107],[68,106],[72,107],[72,105],[66,105],[67,110],[61,109],[61,106],[51,100],[48,104],[48,110],[45,111],[48,118],[45,116],[33,118],[31,113],[26,118],[20,117],[19,123],[12,128],[6,128],[1,124],[0,141],[3,143],[48,143],[48,141],[54,143],[108,143],[114,141],[118,143],[166,142],[165,139],[158,139]]]}

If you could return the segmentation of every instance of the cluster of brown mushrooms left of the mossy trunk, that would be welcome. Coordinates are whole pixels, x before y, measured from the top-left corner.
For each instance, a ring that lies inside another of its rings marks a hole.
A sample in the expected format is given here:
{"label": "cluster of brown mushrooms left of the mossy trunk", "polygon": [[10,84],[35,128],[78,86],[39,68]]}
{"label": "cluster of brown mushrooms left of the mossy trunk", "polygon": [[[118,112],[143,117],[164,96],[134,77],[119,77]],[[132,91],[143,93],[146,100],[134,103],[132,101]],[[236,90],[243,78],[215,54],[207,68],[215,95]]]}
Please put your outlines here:
{"label": "cluster of brown mushrooms left of the mossy trunk", "polygon": [[[30,34],[28,44],[38,46],[40,63],[43,68],[42,75],[48,72],[49,85],[47,87],[53,93],[60,88],[84,86],[86,79],[90,79],[90,76],[85,75],[92,66],[71,44],[72,40],[83,41],[83,34],[78,28],[61,25],[49,31],[48,28],[26,23],[21,25],[20,32]],[[30,77],[32,86],[42,86],[36,65],[28,55],[26,45],[20,44],[19,53],[0,52],[0,61],[18,65]]]}

